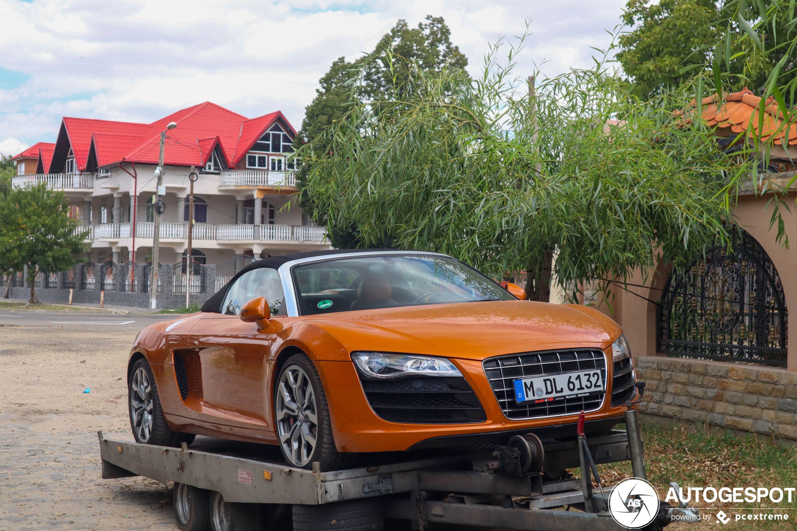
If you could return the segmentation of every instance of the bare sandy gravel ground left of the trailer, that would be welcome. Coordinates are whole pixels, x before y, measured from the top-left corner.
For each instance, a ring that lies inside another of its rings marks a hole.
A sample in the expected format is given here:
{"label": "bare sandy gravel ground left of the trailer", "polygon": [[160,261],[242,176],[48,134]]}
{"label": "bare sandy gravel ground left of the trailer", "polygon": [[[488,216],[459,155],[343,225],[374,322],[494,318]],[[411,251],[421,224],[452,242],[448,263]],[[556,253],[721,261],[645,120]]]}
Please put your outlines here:
{"label": "bare sandy gravel ground left of the trailer", "polygon": [[137,333],[0,326],[2,531],[177,529],[171,489],[100,478],[96,431],[132,439],[124,375]]}

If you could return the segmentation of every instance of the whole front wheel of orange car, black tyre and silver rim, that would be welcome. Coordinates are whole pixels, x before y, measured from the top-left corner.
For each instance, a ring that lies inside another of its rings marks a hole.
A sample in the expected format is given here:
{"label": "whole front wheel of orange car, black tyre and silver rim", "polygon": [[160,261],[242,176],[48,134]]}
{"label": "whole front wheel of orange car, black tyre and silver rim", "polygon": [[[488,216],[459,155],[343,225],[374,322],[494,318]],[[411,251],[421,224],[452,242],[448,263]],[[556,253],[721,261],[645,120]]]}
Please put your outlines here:
{"label": "whole front wheel of orange car, black tyre and silver rim", "polygon": [[274,415],[278,443],[290,466],[311,469],[317,461],[326,472],[346,468],[356,458],[335,447],[327,396],[306,355],[295,354],[282,365],[274,390]]}

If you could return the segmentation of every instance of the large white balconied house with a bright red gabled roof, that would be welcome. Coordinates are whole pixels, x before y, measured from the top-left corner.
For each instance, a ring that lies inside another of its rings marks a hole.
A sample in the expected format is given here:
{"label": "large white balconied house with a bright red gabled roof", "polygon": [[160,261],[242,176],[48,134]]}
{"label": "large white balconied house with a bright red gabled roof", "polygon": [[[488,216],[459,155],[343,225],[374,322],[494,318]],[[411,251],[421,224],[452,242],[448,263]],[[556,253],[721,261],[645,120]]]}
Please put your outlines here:
{"label": "large white balconied house with a bright red gabled roof", "polygon": [[[177,127],[167,129],[171,122]],[[200,264],[329,248],[324,228],[296,204],[290,158],[296,131],[280,111],[250,119],[205,102],[152,123],[64,117],[55,143],[37,143],[14,157],[13,185],[45,182],[63,191],[90,228],[90,262],[146,262],[162,131],[162,264],[186,253],[192,171],[198,177],[192,255]]]}

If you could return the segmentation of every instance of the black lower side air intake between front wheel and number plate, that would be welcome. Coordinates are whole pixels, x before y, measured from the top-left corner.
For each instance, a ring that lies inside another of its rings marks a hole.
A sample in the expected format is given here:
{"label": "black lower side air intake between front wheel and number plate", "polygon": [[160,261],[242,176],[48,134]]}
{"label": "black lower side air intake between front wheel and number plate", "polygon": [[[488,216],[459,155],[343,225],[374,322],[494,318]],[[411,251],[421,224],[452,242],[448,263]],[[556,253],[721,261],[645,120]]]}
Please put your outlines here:
{"label": "black lower side air intake between front wheel and number plate", "polygon": [[371,409],[390,422],[458,424],[487,420],[465,378],[371,380],[360,374],[360,381]]}

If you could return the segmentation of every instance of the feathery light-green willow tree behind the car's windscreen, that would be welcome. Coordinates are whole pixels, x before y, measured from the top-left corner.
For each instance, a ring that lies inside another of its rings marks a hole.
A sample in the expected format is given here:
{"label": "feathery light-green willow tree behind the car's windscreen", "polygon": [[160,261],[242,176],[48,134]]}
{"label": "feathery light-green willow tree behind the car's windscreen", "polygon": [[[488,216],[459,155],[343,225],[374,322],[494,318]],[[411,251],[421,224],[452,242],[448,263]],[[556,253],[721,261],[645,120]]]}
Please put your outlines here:
{"label": "feathery light-green willow tree behind the car's windscreen", "polygon": [[[531,97],[491,46],[481,75],[414,70],[414,90],[359,100],[298,154],[308,193],[367,244],[455,256],[482,271],[528,271],[548,297],[547,257],[563,286],[625,279],[659,256],[685,262],[725,235],[732,160],[689,100],[640,102],[603,63],[543,80]],[[385,54],[387,64],[391,53]],[[726,235],[727,236],[727,235]]]}

